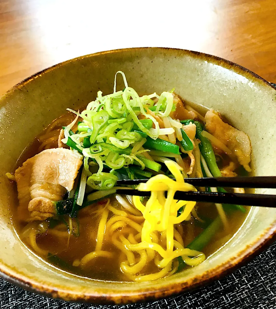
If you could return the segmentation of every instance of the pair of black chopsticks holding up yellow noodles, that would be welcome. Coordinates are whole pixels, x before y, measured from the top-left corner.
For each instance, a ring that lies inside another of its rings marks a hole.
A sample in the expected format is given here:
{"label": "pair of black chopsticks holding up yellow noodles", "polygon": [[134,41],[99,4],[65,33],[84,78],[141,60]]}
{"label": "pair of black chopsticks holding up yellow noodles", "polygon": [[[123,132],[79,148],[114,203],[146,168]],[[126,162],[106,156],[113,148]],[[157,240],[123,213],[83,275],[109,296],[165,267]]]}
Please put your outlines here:
{"label": "pair of black chopsticks holding up yellow noodles", "polygon": [[[147,180],[148,179],[117,180],[117,185],[137,185],[139,183],[145,183]],[[185,182],[198,187],[276,188],[276,176],[185,178]],[[150,192],[134,189],[117,189],[116,193],[143,197],[149,197],[151,195]],[[276,195],[271,194],[176,191],[174,198],[184,201],[276,208]]]}

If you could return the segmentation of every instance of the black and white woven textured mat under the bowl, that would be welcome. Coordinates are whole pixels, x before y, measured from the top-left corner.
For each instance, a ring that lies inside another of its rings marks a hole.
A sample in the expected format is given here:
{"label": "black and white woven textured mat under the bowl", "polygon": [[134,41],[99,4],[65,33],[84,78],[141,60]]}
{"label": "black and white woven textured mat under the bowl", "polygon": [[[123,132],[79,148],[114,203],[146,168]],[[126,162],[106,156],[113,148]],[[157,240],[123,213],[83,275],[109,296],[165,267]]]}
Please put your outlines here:
{"label": "black and white woven textured mat under the bowl", "polygon": [[[276,84],[273,84],[276,87]],[[200,289],[125,306],[74,304],[36,295],[0,278],[0,309],[274,309],[276,242],[247,265]]]}

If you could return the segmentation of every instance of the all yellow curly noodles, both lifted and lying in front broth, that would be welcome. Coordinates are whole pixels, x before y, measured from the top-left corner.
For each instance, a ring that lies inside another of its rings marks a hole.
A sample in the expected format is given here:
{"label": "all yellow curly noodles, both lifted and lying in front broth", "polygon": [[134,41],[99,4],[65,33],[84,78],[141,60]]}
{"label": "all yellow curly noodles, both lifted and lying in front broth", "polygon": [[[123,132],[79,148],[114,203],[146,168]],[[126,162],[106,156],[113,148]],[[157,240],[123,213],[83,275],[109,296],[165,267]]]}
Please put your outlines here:
{"label": "all yellow curly noodles, both lifted and lying in front broth", "polygon": [[[180,222],[190,218],[195,202],[177,201],[173,198],[177,190],[196,189],[184,182],[178,164],[170,160],[165,161],[165,164],[176,180],[156,175],[145,184],[140,184],[139,190],[151,191],[151,197],[145,205],[140,197],[134,196],[134,208],[124,197],[119,196],[112,204],[107,199],[105,205],[100,205],[91,212],[99,218],[96,247],[81,260],[74,260],[74,266],[87,269],[92,267],[91,263],[96,257],[112,259],[116,254],[113,249],[115,247],[121,252],[118,255],[121,272],[128,280],[142,282],[175,273],[178,256],[182,256],[185,263],[191,266],[205,260],[202,252],[184,248],[182,239],[183,228]],[[167,198],[165,191],[168,191]],[[177,217],[180,207],[184,207],[184,210]],[[94,234],[91,237],[95,239]],[[149,268],[152,265],[157,270],[154,273]]]}

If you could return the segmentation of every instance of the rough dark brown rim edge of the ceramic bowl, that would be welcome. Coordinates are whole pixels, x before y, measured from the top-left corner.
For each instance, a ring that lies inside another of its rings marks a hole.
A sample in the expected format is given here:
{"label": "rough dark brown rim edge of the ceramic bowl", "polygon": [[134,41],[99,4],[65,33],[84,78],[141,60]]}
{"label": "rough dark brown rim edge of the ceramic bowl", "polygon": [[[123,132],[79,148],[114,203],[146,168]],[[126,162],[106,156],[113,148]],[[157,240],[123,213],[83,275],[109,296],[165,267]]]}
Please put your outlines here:
{"label": "rough dark brown rim edge of the ceramic bowl", "polygon": [[[88,57],[95,57],[98,55],[104,55],[104,54],[115,54],[115,53],[124,53],[128,51],[143,51],[143,50],[153,50],[153,51],[167,51],[167,52],[173,52],[178,51],[181,56],[191,56],[193,58],[201,58],[205,61],[217,64],[219,66],[223,66],[224,68],[231,69],[235,73],[240,75],[246,75],[247,78],[254,78],[256,81],[258,81],[262,85],[267,85],[273,88],[276,92],[276,88],[266,81],[264,78],[260,77],[256,73],[252,72],[251,70],[248,70],[244,68],[243,66],[240,66],[232,61],[226,60],[224,58],[210,55],[207,53],[201,53],[196,51],[191,51],[187,49],[176,49],[176,48],[164,48],[164,47],[135,47],[135,48],[125,48],[125,49],[114,49],[114,50],[108,50],[98,53],[92,53],[87,54],[84,56],[79,56],[67,61],[60,62],[56,65],[50,66],[44,70],[41,70],[35,74],[32,74],[31,76],[23,79],[21,82],[17,83],[15,86],[11,87],[8,91],[6,91],[5,94],[3,94],[0,97],[1,99],[4,99],[4,97],[8,97],[15,91],[16,89],[20,89],[25,84],[29,83],[35,78],[40,77],[41,75],[52,71],[60,66],[66,65],[67,63],[82,60],[84,58]],[[259,238],[255,239],[254,243],[251,243],[248,245],[243,251],[239,252],[239,254],[236,257],[232,257],[227,262],[224,262],[221,265],[218,265],[214,267],[213,269],[208,270],[204,273],[203,276],[198,276],[198,278],[193,277],[185,282],[178,282],[173,285],[166,285],[163,284],[162,287],[160,287],[158,290],[154,289],[154,287],[151,290],[135,290],[135,292],[127,290],[126,292],[110,292],[109,294],[101,295],[96,292],[96,290],[92,291],[91,293],[82,293],[82,292],[74,292],[73,290],[63,290],[62,288],[57,288],[51,285],[44,285],[42,283],[39,283],[33,279],[28,278],[25,275],[20,274],[18,271],[14,271],[8,266],[4,265],[0,262],[0,276],[3,277],[5,280],[22,287],[25,290],[41,294],[47,297],[52,297],[56,299],[71,301],[71,302],[83,302],[83,303],[103,303],[103,304],[125,304],[125,303],[134,303],[134,302],[141,302],[146,300],[152,300],[152,299],[159,299],[163,297],[167,297],[173,294],[177,294],[189,289],[193,289],[199,286],[206,285],[207,283],[210,283],[211,281],[218,279],[220,277],[225,276],[226,274],[233,271],[235,268],[240,266],[243,262],[248,261],[250,258],[252,258],[254,255],[259,253],[266,245],[269,245],[274,239],[276,239],[276,222],[271,224]]]}

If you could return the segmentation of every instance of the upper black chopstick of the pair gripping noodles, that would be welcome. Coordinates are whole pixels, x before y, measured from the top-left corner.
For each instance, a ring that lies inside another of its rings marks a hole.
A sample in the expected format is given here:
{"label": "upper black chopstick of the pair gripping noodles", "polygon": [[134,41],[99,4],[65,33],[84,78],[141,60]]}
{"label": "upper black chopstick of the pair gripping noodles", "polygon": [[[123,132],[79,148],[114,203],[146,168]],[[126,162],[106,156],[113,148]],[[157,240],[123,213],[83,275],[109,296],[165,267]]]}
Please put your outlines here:
{"label": "upper black chopstick of the pair gripping noodles", "polygon": [[[147,180],[117,180],[117,185],[137,185]],[[185,178],[185,182],[197,187],[276,188],[276,176]]]}

